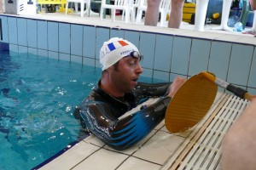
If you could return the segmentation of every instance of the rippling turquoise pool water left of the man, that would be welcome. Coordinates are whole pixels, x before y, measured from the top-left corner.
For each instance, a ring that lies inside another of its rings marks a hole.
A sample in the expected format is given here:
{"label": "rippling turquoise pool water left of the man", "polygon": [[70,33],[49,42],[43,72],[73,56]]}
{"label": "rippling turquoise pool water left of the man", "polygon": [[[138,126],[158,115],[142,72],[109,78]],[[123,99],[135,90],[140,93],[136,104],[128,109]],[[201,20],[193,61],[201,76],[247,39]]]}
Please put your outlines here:
{"label": "rippling turquoise pool water left of the man", "polygon": [[0,51],[0,169],[31,169],[78,140],[74,107],[101,71]]}

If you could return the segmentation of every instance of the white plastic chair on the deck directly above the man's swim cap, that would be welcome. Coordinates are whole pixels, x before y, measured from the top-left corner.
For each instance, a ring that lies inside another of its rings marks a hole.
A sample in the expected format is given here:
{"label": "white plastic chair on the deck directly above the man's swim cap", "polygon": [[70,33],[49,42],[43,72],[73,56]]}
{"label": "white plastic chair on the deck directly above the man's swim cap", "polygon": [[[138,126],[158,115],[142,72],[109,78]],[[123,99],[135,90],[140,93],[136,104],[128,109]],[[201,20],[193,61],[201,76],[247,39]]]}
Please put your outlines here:
{"label": "white plastic chair on the deck directly above the man's swim cap", "polygon": [[103,11],[106,8],[111,9],[112,21],[115,21],[116,9],[123,10],[125,12],[125,23],[130,22],[130,11],[131,11],[132,0],[115,0],[114,4],[106,4],[106,0],[102,0],[100,19],[103,18]]}

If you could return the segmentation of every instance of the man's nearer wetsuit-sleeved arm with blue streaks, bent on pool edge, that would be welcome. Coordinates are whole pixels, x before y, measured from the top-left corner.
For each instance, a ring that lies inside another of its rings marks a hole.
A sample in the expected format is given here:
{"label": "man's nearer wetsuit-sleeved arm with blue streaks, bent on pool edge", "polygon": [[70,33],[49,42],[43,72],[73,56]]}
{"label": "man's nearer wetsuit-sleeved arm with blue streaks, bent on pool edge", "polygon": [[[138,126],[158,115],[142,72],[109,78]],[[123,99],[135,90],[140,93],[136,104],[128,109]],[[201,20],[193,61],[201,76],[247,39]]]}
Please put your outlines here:
{"label": "man's nearer wetsuit-sleeved arm with blue streaks, bent on pool edge", "polygon": [[144,139],[165,118],[170,99],[160,99],[120,120],[109,117],[109,105],[99,102],[85,105],[80,111],[81,123],[113,149],[125,150]]}

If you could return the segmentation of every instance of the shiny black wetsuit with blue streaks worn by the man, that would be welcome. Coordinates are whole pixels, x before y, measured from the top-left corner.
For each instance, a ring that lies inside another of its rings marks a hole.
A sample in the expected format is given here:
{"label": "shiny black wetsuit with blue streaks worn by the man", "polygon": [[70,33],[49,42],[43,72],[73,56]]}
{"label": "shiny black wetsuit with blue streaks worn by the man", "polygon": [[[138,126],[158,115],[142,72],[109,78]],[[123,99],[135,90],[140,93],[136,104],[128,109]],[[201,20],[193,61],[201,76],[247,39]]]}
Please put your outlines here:
{"label": "shiny black wetsuit with blue streaks worn by the man", "polygon": [[[131,93],[125,94],[123,98],[114,98],[97,85],[79,105],[77,114],[82,126],[90,133],[113,149],[124,150],[146,137],[165,118],[171,100],[166,97],[169,86],[170,83],[139,82]],[[154,105],[119,119],[145,99],[154,97],[161,98]]]}

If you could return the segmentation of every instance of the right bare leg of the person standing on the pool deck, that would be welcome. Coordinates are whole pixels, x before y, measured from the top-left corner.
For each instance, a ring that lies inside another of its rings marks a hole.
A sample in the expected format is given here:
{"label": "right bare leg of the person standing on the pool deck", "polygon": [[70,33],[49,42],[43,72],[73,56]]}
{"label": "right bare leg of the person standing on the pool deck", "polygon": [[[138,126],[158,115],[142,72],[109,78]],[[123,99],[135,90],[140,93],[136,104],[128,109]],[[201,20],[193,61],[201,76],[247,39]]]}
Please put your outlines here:
{"label": "right bare leg of the person standing on the pool deck", "polygon": [[172,9],[168,23],[169,28],[179,28],[183,19],[184,0],[171,0]]}

